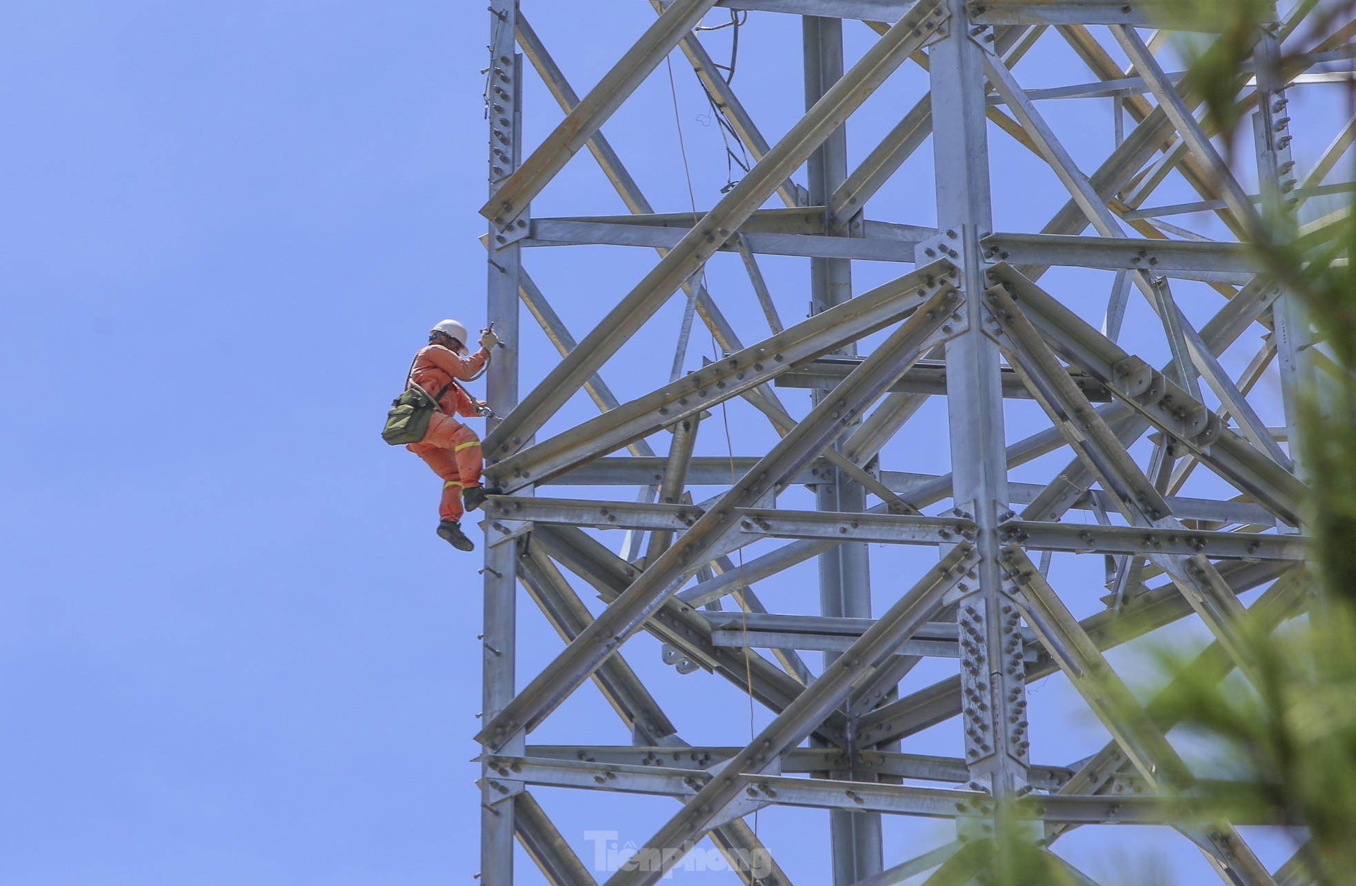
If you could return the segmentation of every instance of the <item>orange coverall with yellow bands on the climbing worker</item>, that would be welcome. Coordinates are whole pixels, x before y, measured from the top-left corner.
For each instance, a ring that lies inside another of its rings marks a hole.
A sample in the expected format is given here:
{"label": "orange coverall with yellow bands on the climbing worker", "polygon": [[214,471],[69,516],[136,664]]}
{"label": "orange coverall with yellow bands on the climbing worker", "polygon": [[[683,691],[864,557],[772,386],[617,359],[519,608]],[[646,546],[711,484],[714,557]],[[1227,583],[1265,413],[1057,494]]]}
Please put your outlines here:
{"label": "orange coverall with yellow bands on the climbing worker", "polygon": [[490,351],[484,348],[471,356],[461,356],[453,354],[450,348],[430,344],[415,356],[415,366],[410,373],[414,382],[431,397],[437,397],[439,390],[447,387],[438,401],[442,412],[433,413],[424,438],[418,443],[410,443],[405,448],[424,459],[433,473],[442,477],[442,504],[438,507],[438,516],[453,523],[460,522],[464,512],[461,490],[480,485],[484,458],[480,454],[480,438],[476,432],[452,417],[454,413],[477,415],[471,396],[452,381],[469,379],[488,359]]}

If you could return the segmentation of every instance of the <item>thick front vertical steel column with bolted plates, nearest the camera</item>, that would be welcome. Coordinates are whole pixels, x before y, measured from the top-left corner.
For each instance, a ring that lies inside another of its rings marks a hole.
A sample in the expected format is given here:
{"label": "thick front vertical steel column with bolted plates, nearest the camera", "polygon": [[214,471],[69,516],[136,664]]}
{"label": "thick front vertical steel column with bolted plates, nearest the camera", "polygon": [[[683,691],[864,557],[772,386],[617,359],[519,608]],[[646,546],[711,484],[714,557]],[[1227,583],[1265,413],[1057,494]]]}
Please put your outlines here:
{"label": "thick front vertical steel column with bolted plates, nearest the camera", "polygon": [[965,0],[930,50],[937,222],[963,271],[968,331],[946,344],[946,398],[956,509],[978,526],[976,573],[957,587],[965,759],[972,788],[997,798],[1026,790],[1026,719],[1018,616],[1002,587],[997,523],[1008,512],[998,347],[982,332],[986,268],[979,241],[993,230],[984,62],[991,28],[967,26]]}

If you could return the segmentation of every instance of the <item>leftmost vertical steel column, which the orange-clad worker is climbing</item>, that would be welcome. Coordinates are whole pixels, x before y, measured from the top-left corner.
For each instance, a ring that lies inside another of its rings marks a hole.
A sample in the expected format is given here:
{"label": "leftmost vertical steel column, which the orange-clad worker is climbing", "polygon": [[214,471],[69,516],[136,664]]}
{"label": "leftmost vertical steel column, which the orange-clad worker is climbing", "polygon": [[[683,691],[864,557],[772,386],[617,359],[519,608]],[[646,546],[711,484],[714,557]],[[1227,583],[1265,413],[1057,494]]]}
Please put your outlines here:
{"label": "leftmost vertical steel column, which the orange-clad worker is climbing", "polygon": [[[485,110],[490,122],[490,198],[522,160],[522,57],[515,53],[518,0],[491,0],[490,69],[485,83]],[[488,286],[485,316],[504,343],[494,348],[485,390],[495,412],[507,415],[518,405],[518,286],[521,248],[527,230],[526,210],[513,218],[490,224]],[[487,431],[498,424],[491,419]],[[523,494],[519,492],[518,494]],[[529,492],[530,494],[530,492]],[[514,660],[517,641],[517,545],[490,547],[485,539],[483,717],[490,721],[515,692]],[[511,741],[504,753],[522,753],[523,736]],[[522,783],[504,782],[488,768],[480,775],[480,882],[510,886],[514,882],[514,797]]]}

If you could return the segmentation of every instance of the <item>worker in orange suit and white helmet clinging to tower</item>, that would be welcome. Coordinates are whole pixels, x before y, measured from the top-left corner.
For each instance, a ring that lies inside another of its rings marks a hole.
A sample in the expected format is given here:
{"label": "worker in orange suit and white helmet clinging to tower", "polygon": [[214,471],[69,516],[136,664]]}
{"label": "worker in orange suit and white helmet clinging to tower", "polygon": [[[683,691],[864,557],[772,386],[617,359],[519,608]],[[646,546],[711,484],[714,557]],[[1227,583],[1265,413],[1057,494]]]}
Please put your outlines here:
{"label": "worker in orange suit and white helmet clinging to tower", "polygon": [[479,508],[487,496],[499,489],[484,489],[480,470],[480,438],[453,416],[488,415],[483,400],[475,400],[458,382],[473,381],[490,362],[490,348],[499,344],[494,329],[480,333],[480,350],[466,356],[466,328],[456,320],[443,320],[428,331],[428,345],[415,355],[410,381],[438,401],[438,409],[428,420],[428,431],[407,450],[424,459],[433,473],[442,477],[442,504],[438,508],[438,536],[457,550],[476,550],[475,543],[461,531],[465,511]]}

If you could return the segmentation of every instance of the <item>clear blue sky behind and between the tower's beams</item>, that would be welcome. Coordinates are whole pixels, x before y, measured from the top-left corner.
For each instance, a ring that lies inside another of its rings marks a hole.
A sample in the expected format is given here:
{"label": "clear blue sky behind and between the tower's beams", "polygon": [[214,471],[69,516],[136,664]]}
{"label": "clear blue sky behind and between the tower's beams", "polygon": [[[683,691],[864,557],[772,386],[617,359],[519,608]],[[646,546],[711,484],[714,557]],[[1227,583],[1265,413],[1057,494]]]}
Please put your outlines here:
{"label": "clear blue sky behind and between the tower's beams", "polygon": [[[652,18],[639,0],[589,14],[537,5],[526,12],[580,92]],[[727,35],[711,38],[717,58]],[[869,39],[850,27],[849,54]],[[735,85],[776,138],[799,114],[799,61],[786,51],[799,50],[799,22],[754,14],[742,41]],[[433,535],[435,478],[377,429],[431,322],[483,325],[485,42],[480,7],[433,0],[0,9],[0,402],[12,416],[0,431],[0,882],[471,882],[479,555]],[[1066,46],[1040,46],[1018,68],[1024,85],[1086,79]],[[660,211],[689,207],[675,126],[698,209],[725,184],[709,108],[681,56],[673,70],[674,92],[660,65],[605,130]],[[854,159],[925,85],[906,68],[868,102],[849,125]],[[1109,103],[1051,104],[1075,159],[1096,168],[1111,146]],[[557,119],[533,81],[529,144]],[[1317,152],[1336,118],[1321,108],[1311,119]],[[933,221],[930,149],[906,172],[871,217]],[[1172,187],[1161,202],[1192,199]],[[999,229],[1036,230],[1066,199],[1010,141],[994,150],[994,188]],[[534,211],[624,209],[580,156]],[[727,259],[712,261],[712,291],[755,341],[766,335],[761,314]],[[586,248],[526,260],[578,336],[655,257]],[[804,263],[763,267],[795,322],[808,299]],[[898,272],[862,267],[856,290]],[[1109,275],[1050,280],[1096,290],[1079,301],[1089,317],[1105,306]],[[1189,314],[1218,309],[1218,297],[1185,291]],[[609,364],[624,400],[667,381],[681,310],[673,299]],[[1135,312],[1143,320],[1147,309]],[[530,325],[525,314],[527,379],[556,359]],[[1146,340],[1146,358],[1155,347]],[[698,328],[686,367],[704,354]],[[784,401],[797,413],[808,405],[804,392]],[[885,467],[944,470],[945,413],[933,406]],[[576,397],[546,432],[593,410]],[[1014,406],[1010,439],[1039,420]],[[732,406],[730,421],[738,454],[772,439],[749,410]],[[698,451],[728,451],[719,427],[704,429]],[[872,557],[883,608],[891,584],[880,576],[921,568],[928,554]],[[1088,585],[1070,606],[1094,611],[1100,564],[1067,560],[1055,574]],[[810,611],[812,576],[812,565],[792,570],[763,599]],[[559,644],[525,596],[519,620],[530,641],[522,683]],[[689,741],[747,737],[747,707],[716,677],[679,677],[644,637],[626,654]],[[723,694],[734,713],[711,717],[698,688]],[[1058,718],[1035,730],[1043,763],[1104,740],[1067,695],[1052,681],[1033,696],[1037,713],[1044,704]],[[607,717],[587,688],[534,741],[625,744]],[[955,736],[938,729],[915,748],[953,752]],[[540,799],[586,860],[586,830],[639,843],[677,809],[559,791]],[[763,816],[767,843],[797,882],[822,882],[824,862],[804,835],[826,817],[800,816]],[[1108,849],[1093,835],[1067,843],[1094,874],[1116,867],[1098,870],[1100,853],[1139,845],[1117,832],[1125,841]],[[944,839],[926,822],[887,836],[887,862]],[[1170,856],[1201,870],[1189,849]]]}

